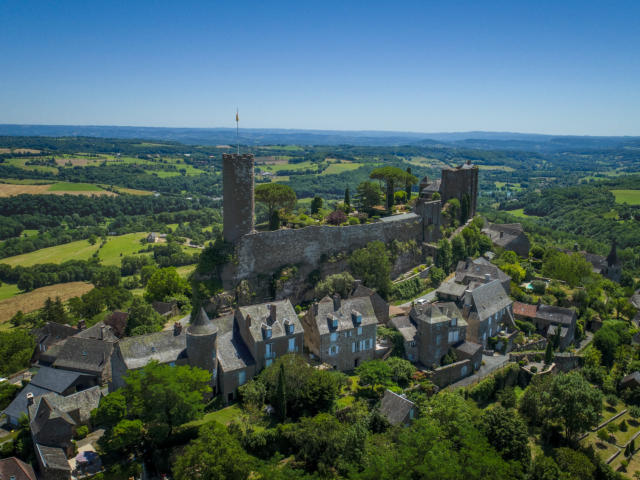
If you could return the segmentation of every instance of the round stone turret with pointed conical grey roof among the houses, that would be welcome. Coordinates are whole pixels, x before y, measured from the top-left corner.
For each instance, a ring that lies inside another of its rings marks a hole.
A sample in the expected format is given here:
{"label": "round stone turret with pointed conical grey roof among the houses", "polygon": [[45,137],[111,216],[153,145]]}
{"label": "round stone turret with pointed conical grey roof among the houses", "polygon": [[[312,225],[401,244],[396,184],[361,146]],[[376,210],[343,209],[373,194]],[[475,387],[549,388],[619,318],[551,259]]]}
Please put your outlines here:
{"label": "round stone turret with pointed conical grey roof among the houses", "polygon": [[196,313],[187,328],[187,357],[189,365],[211,372],[211,385],[215,390],[218,374],[218,327],[209,319],[204,308]]}

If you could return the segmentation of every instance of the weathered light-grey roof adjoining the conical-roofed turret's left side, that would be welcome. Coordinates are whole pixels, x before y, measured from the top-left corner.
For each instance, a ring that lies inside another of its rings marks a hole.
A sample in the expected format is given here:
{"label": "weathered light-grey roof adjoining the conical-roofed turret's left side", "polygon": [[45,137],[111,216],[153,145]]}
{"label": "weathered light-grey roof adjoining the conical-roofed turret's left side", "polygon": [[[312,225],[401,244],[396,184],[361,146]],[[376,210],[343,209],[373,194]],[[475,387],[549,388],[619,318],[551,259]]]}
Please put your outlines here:
{"label": "weathered light-grey roof adjoining the conical-roofed turret's left side", "polygon": [[130,370],[142,368],[152,360],[159,363],[175,362],[186,355],[187,336],[184,330],[176,335],[171,330],[148,333],[120,340],[116,347]]}

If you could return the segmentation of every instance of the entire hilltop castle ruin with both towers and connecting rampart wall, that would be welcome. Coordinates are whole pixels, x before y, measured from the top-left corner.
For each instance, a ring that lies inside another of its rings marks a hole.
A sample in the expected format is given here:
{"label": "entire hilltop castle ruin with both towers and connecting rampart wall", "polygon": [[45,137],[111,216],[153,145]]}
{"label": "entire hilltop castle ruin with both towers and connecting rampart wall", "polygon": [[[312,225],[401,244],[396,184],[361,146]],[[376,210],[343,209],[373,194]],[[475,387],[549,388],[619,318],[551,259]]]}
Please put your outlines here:
{"label": "entire hilltop castle ruin with both towers and connecting rampart wall", "polygon": [[[326,264],[326,259],[340,253],[348,254],[375,240],[384,243],[414,241],[421,254],[420,258],[409,259],[403,265],[411,268],[421,263],[423,252],[433,252],[433,243],[441,235],[442,206],[448,200],[456,198],[461,205],[466,203],[469,217],[476,213],[478,168],[466,163],[443,169],[441,180],[429,182],[425,177],[410,213],[383,217],[377,222],[361,225],[318,225],[256,232],[253,155],[224,154],[222,171],[223,235],[224,240],[233,245],[234,262],[225,265],[221,278],[226,290],[233,290],[245,282],[254,301],[270,297],[302,300],[304,292],[293,286],[282,292],[270,291],[270,287],[265,285],[268,283],[265,277],[273,277],[279,270],[295,266],[298,277],[292,284],[299,285],[314,271],[319,271],[320,276],[343,271],[345,265],[334,265],[333,271]],[[440,198],[433,198],[435,192]],[[251,298],[238,298],[238,301],[243,304]]]}

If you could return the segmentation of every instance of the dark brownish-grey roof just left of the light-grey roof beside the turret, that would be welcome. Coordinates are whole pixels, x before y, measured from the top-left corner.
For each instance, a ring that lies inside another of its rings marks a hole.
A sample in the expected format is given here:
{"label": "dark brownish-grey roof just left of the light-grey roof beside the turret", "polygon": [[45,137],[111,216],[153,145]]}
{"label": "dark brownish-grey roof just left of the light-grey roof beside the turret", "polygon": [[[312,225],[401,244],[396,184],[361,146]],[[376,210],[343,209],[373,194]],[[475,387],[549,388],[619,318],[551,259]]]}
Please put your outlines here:
{"label": "dark brownish-grey roof just left of the light-grey roof beside the turret", "polygon": [[69,337],[53,366],[100,375],[109,363],[113,345],[93,338]]}

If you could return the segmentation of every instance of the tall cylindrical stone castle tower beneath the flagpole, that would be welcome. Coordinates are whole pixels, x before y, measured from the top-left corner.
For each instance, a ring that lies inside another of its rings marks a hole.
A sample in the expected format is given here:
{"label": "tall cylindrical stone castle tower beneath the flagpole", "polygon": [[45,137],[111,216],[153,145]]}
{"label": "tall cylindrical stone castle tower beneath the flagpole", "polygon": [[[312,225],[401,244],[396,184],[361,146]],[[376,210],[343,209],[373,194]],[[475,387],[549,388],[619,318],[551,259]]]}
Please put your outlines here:
{"label": "tall cylindrical stone castle tower beneath the flagpole", "polygon": [[253,155],[222,155],[222,211],[225,241],[235,243],[253,232]]}

